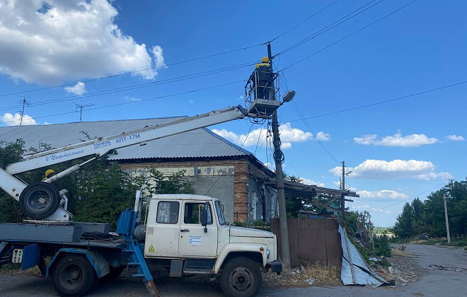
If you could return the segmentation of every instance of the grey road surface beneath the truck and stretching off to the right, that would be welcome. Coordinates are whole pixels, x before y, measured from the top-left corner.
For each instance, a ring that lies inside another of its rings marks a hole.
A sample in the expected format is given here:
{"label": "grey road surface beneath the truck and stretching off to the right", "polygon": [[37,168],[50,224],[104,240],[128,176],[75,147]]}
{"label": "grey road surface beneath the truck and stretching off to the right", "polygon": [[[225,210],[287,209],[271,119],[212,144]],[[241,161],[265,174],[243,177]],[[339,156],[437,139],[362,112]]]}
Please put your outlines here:
{"label": "grey road surface beneath the truck and stretching off to the right", "polygon": [[[420,281],[404,284],[397,281],[395,287],[367,288],[362,286],[335,286],[306,289],[279,289],[260,291],[260,297],[292,296],[467,296],[467,251],[460,248],[443,248],[433,245],[407,245],[408,259],[420,266],[424,272]],[[202,279],[158,279],[161,296],[217,297],[224,296],[217,282]],[[0,296],[57,296],[49,279],[30,275],[0,275]],[[98,284],[88,296],[146,296],[140,282],[125,277],[110,284]]]}

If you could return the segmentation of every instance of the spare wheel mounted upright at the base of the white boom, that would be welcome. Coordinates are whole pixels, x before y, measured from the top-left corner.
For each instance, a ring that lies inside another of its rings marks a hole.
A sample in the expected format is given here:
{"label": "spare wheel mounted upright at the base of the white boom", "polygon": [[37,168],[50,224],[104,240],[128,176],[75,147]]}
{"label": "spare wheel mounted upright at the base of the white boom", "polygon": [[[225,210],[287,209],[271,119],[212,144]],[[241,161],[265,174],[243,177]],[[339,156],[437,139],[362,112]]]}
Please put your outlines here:
{"label": "spare wheel mounted upright at the base of the white boom", "polygon": [[20,208],[23,214],[35,220],[52,215],[60,204],[60,194],[54,185],[35,182],[25,187],[20,195]]}

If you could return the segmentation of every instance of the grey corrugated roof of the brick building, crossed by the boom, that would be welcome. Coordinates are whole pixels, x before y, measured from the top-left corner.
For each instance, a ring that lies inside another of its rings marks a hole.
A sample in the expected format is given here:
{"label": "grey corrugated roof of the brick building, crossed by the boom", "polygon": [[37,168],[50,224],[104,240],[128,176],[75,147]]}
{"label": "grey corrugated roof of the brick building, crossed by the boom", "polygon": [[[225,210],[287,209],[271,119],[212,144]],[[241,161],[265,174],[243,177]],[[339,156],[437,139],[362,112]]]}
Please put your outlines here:
{"label": "grey corrugated roof of the brick building, crossed by the boom", "polygon": [[[52,148],[76,144],[88,140],[86,134],[94,139],[129,132],[151,125],[171,122],[180,117],[154,118],[143,120],[115,120],[103,122],[74,122],[67,124],[30,125],[16,127],[0,127],[0,140],[14,142],[25,141],[25,148],[38,150],[40,143],[50,144]],[[84,133],[86,132],[86,134]],[[207,128],[196,129],[173,136],[149,141],[145,146],[128,146],[119,148],[117,155],[109,156],[110,160],[137,158],[215,158],[224,156],[245,156],[251,153],[236,144],[214,134]]]}

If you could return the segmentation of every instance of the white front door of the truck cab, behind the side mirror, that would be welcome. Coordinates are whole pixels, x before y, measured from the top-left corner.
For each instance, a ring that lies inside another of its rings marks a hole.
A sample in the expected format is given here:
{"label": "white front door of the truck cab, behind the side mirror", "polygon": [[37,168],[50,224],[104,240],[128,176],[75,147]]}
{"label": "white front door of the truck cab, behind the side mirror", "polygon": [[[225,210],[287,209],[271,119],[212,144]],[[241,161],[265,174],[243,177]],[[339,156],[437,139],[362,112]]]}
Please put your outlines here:
{"label": "white front door of the truck cab, behind the side mirror", "polygon": [[[207,233],[201,226],[201,209],[207,208]],[[183,201],[183,216],[180,218],[178,253],[188,257],[216,257],[217,221],[210,202]]]}

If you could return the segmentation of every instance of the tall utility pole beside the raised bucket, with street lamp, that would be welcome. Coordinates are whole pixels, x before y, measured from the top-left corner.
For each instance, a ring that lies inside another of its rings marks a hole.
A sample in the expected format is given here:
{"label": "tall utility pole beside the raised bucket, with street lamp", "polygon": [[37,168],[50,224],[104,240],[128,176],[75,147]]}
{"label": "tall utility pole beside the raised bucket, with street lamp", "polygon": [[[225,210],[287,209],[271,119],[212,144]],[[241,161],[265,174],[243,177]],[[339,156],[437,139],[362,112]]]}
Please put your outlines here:
{"label": "tall utility pole beside the raised bucket, with street lamp", "polygon": [[[272,67],[271,45],[267,42],[267,57]],[[275,98],[275,86],[272,85],[271,100]],[[282,262],[286,269],[291,268],[290,263],[290,247],[289,247],[289,229],[287,227],[287,209],[285,208],[285,193],[284,193],[284,174],[282,173],[282,161],[284,154],[280,149],[279,122],[277,120],[277,110],[272,115],[272,144],[274,144],[274,161],[276,165],[276,180],[277,180],[277,200],[279,202],[279,226],[280,226],[280,243],[282,251]]]}

